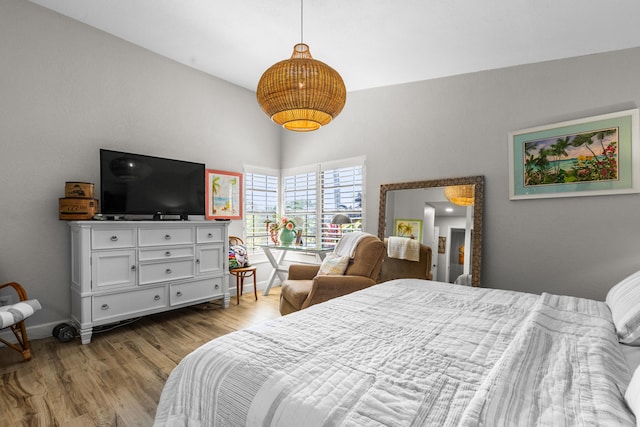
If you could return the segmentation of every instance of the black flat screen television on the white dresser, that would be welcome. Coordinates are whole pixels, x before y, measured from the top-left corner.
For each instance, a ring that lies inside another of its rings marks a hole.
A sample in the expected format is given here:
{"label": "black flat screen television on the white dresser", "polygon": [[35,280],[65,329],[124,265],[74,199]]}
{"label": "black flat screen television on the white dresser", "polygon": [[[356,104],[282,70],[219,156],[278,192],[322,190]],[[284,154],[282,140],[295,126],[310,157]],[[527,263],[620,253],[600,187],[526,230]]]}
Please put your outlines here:
{"label": "black flat screen television on the white dresser", "polygon": [[103,215],[204,215],[202,163],[100,149]]}

